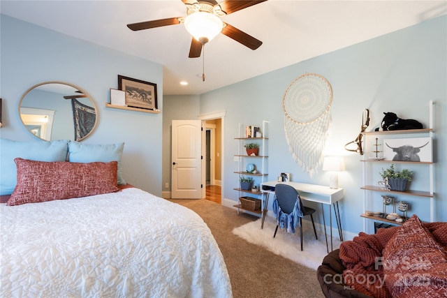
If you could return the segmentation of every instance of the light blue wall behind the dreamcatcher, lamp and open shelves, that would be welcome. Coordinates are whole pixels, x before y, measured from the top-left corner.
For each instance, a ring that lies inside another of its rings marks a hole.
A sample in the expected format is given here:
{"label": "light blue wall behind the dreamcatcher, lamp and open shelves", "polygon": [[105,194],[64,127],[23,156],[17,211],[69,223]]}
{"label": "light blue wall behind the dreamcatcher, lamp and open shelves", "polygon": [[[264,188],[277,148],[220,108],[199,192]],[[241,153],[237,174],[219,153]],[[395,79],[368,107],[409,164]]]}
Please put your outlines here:
{"label": "light blue wall behind the dreamcatcher, lamp and open shelves", "polygon": [[[200,113],[226,110],[223,198],[237,200],[237,125],[262,124],[270,121],[269,179],[280,172],[291,172],[293,181],[328,184],[328,173],[309,177],[293,161],[284,134],[282,98],[295,78],[305,73],[323,75],[333,90],[332,125],[326,143],[328,155],[344,156],[346,172],[339,175],[345,190],[342,202],[343,228],[357,233],[362,230],[359,217],[363,208],[362,166],[360,155],[344,150],[344,144],[360,132],[362,112],[371,112],[369,130],[379,125],[383,112],[397,112],[402,118],[429,123],[429,100],[435,101],[434,155],[436,208],[435,220],[447,221],[447,17],[423,22],[413,27],[346,47],[299,64],[281,68],[250,80],[223,87],[200,96]],[[279,49],[280,51],[281,49]],[[297,49],[299,51],[300,49]],[[280,52],[278,52],[280,54]],[[241,67],[244,67],[241,64]],[[182,106],[178,106],[182,109]],[[382,165],[386,167],[386,164]],[[166,167],[163,167],[166,169]],[[381,178],[376,170],[376,181]],[[416,168],[415,179],[427,181],[425,170]],[[415,181],[416,182],[416,181]],[[429,199],[397,196],[413,203],[413,212],[430,219]],[[380,193],[374,200],[379,202]],[[327,214],[326,214],[327,215]],[[332,217],[333,218],[333,217]]]}

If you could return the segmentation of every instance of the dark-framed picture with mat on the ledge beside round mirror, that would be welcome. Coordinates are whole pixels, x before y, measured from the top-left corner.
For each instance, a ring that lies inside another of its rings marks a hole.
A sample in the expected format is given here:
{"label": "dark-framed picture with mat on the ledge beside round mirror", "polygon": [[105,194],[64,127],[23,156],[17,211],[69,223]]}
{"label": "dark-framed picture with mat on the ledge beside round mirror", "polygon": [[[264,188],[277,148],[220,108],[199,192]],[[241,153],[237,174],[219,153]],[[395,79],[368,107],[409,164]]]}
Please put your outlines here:
{"label": "dark-framed picture with mat on the ledge beside round mirror", "polygon": [[125,92],[128,107],[158,110],[156,84],[118,75],[118,89]]}

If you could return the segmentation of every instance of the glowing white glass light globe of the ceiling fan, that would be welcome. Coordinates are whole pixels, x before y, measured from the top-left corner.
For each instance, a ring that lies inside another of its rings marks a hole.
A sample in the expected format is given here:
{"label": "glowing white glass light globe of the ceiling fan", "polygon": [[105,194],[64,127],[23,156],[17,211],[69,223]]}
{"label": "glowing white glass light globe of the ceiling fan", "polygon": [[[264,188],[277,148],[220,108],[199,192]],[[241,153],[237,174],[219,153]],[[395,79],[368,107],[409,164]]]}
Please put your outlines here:
{"label": "glowing white glass light globe of the ceiling fan", "polygon": [[223,23],[217,15],[199,11],[186,17],[184,27],[200,43],[207,43],[221,33]]}

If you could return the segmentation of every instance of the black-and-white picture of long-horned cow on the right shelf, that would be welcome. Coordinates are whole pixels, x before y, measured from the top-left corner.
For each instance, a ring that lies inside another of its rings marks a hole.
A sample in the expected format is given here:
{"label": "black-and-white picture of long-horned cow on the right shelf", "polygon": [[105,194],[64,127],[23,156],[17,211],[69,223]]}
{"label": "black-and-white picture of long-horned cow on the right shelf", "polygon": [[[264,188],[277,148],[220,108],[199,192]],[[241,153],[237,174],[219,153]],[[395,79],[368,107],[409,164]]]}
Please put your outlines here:
{"label": "black-and-white picture of long-horned cow on the right shelf", "polygon": [[383,139],[383,157],[386,161],[432,163],[432,138]]}

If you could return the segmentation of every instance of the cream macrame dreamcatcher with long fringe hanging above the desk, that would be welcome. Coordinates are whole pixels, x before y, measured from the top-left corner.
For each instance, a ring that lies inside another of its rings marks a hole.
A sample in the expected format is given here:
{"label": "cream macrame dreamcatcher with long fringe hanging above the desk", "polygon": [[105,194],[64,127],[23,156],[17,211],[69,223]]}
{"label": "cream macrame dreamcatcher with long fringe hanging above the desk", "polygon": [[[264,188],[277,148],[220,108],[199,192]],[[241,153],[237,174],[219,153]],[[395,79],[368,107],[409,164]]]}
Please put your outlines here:
{"label": "cream macrame dreamcatcher with long fringe hanging above the desk", "polygon": [[282,100],[289,151],[310,177],[323,159],[331,103],[332,87],[328,80],[314,73],[291,82]]}

